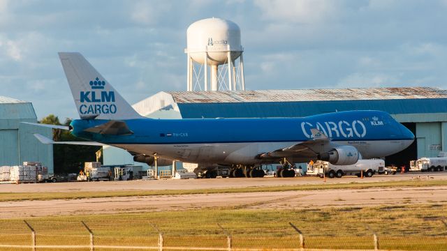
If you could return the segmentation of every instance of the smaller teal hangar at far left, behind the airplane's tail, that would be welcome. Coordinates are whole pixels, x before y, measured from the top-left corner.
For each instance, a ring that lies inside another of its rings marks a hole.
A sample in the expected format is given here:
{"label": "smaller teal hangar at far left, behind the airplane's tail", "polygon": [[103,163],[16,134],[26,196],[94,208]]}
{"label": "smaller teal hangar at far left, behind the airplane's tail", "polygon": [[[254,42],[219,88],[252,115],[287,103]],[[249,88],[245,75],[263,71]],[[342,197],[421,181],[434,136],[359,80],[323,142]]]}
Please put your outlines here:
{"label": "smaller teal hangar at far left, behind the airplane's tail", "polygon": [[39,133],[52,137],[52,129],[21,122],[37,123],[31,102],[0,96],[0,166],[37,161],[48,167],[48,172],[52,174],[52,145],[42,144],[33,135]]}

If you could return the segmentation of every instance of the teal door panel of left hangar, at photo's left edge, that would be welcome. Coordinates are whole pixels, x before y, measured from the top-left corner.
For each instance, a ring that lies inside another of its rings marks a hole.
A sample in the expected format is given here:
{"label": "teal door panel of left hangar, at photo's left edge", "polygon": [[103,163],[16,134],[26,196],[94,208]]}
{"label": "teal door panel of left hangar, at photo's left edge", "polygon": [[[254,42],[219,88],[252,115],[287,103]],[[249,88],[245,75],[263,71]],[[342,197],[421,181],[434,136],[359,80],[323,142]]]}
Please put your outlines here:
{"label": "teal door panel of left hangar, at photo's left edge", "polygon": [[0,165],[19,165],[19,130],[0,130]]}

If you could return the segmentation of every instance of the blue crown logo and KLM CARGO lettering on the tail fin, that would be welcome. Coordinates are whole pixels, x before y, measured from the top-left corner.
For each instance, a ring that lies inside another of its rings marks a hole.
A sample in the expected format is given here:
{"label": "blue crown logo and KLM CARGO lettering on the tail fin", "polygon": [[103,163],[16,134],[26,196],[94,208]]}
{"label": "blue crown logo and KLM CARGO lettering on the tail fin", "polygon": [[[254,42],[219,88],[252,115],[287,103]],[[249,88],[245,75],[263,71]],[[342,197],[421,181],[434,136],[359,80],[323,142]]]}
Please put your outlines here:
{"label": "blue crown logo and KLM CARGO lettering on the tail fin", "polygon": [[80,102],[82,103],[79,107],[80,114],[115,114],[117,112],[117,106],[113,104],[115,103],[115,92],[101,91],[104,89],[105,81],[99,80],[98,77],[90,81],[89,85],[91,91],[80,92]]}

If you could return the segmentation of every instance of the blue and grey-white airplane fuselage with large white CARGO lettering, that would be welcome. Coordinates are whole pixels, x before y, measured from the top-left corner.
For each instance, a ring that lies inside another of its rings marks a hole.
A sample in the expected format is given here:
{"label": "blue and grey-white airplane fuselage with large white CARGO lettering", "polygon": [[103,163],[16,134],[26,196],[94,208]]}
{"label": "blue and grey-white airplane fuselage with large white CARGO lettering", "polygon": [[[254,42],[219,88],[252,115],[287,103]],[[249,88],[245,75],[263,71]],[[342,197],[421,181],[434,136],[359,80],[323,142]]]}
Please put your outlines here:
{"label": "blue and grey-white airplane fuselage with large white CARGO lettering", "polygon": [[[258,158],[263,153],[312,140],[312,128],[323,132],[336,146],[354,146],[362,158],[381,158],[402,151],[413,134],[386,112],[352,111],[294,119],[129,119],[131,135],[85,132],[101,119],[72,122],[77,137],[117,146],[133,153],[161,158],[222,165],[277,163],[278,158]],[[315,155],[316,156],[316,155]],[[291,157],[307,162],[309,157]]]}

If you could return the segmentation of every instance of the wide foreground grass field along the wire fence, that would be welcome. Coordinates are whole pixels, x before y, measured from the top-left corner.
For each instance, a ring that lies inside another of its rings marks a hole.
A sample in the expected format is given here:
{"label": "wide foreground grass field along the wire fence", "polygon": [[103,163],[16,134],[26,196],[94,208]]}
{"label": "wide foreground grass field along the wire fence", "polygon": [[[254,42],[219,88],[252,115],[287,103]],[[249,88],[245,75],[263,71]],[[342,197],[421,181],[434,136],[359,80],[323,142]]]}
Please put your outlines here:
{"label": "wide foreground grass field along the wire fence", "polygon": [[[360,184],[358,184],[360,185]],[[381,249],[447,250],[447,204],[368,208],[247,210],[208,208],[115,215],[72,215],[28,218],[38,245],[88,245],[84,220],[94,231],[96,245],[156,245],[156,225],[165,246],[225,248],[222,225],[233,236],[234,248],[298,248],[293,222],[305,234],[307,248],[372,249],[377,232]],[[0,220],[0,244],[29,244],[22,219]]]}

